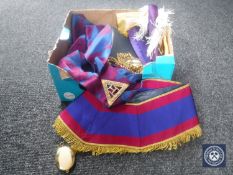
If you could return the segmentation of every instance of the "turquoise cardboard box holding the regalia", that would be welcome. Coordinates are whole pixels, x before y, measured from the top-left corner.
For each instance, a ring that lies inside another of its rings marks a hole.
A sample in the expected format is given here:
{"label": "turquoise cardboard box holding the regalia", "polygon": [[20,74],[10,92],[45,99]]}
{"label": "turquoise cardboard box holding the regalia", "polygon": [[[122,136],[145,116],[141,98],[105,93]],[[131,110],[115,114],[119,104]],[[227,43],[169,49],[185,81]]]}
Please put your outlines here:
{"label": "turquoise cardboard box holding the regalia", "polygon": [[[83,14],[90,22],[94,24],[104,24],[104,25],[110,24],[113,27],[117,27],[116,13],[127,12],[127,11],[134,11],[134,10],[71,10],[68,13],[63,25],[61,35],[58,38],[53,50],[49,51],[49,58],[48,58],[48,68],[61,101],[73,101],[84,91],[79,86],[79,84],[75,80],[73,80],[72,77],[69,76],[69,74],[65,70],[57,66],[60,59],[67,54],[67,51],[70,47],[69,37],[70,37],[72,15]],[[161,67],[158,64],[161,65],[163,64],[163,66]],[[143,71],[144,72],[143,77],[158,78],[157,74],[155,74],[153,70],[156,67],[157,73],[164,72],[162,71],[164,64],[167,64],[167,62],[151,63],[146,65]],[[169,62],[168,64],[171,63]],[[159,67],[159,69],[157,67]],[[167,75],[165,76],[165,78],[169,79]]]}

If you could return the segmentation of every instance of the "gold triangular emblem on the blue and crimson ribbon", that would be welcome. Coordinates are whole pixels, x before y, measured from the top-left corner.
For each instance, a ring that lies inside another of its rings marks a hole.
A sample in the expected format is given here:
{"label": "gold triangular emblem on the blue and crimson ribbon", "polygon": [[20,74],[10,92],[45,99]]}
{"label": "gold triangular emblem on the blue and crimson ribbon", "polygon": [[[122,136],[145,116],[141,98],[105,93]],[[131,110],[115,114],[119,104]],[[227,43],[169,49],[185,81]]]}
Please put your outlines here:
{"label": "gold triangular emblem on the blue and crimson ribbon", "polygon": [[128,84],[111,80],[101,80],[104,93],[110,107],[114,101],[128,88]]}

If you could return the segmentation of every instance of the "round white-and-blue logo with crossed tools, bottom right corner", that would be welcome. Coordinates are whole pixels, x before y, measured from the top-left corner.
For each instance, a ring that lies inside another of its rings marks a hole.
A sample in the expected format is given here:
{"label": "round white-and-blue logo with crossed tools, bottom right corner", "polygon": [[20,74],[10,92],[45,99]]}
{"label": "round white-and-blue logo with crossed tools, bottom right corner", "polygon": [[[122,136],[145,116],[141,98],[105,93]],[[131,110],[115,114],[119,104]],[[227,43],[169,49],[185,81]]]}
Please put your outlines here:
{"label": "round white-and-blue logo with crossed tools, bottom right corner", "polygon": [[204,160],[210,166],[221,165],[224,156],[224,151],[219,146],[210,146],[204,152]]}

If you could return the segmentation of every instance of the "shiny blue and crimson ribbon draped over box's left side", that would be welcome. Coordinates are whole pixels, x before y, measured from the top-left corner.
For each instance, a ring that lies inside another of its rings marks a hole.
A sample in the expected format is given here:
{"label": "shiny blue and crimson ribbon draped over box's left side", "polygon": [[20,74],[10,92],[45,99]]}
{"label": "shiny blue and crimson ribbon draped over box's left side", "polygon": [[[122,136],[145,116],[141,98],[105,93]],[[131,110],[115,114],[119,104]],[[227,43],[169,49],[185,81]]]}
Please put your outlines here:
{"label": "shiny blue and crimson ribbon draped over box's left side", "polygon": [[[141,81],[142,75],[124,68],[113,67],[107,62],[111,49],[115,46],[113,45],[114,30],[109,25],[90,25],[89,22],[85,22],[87,19],[82,15],[75,16],[74,20],[75,25],[78,25],[81,30],[78,34],[74,34],[70,51],[73,51],[73,48],[77,50],[62,58],[58,66],[66,70],[74,80],[94,94],[105,106],[110,107],[128,101],[136,93],[133,88],[135,83]],[[117,86],[111,82],[116,82]],[[103,87],[105,84],[107,88]],[[123,86],[125,84],[127,87]],[[128,91],[125,91],[126,89]],[[119,96],[122,97],[118,98]]]}

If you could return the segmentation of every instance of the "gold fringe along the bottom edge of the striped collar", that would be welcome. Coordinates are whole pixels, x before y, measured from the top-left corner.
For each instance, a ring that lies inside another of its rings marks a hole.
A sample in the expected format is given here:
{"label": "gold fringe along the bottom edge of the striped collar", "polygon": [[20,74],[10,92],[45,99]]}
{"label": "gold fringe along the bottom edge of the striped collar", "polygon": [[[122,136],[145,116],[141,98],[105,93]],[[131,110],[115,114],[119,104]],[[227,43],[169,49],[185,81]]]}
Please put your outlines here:
{"label": "gold fringe along the bottom edge of the striped collar", "polygon": [[57,134],[63,137],[75,152],[92,152],[92,155],[100,155],[104,153],[144,153],[154,150],[175,150],[183,143],[189,142],[192,139],[198,138],[202,135],[202,130],[200,126],[197,125],[194,128],[191,128],[165,141],[145,147],[134,147],[85,142],[69,129],[69,127],[62,121],[60,116],[58,116],[55,120],[53,127]]}

